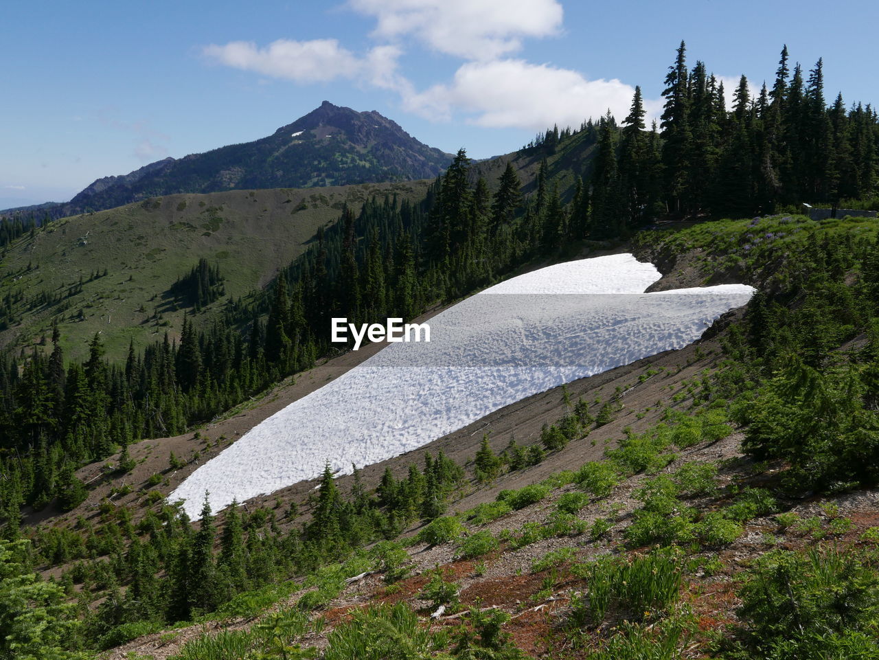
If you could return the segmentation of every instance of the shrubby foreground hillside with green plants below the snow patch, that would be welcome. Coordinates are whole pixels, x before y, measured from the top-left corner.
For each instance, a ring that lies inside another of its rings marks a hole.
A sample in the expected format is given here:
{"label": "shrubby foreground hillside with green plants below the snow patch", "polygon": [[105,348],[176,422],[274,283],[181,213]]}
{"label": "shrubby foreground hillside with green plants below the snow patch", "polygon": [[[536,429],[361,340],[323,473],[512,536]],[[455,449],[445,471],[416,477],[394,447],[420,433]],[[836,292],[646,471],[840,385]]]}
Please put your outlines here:
{"label": "shrubby foreground hillside with green plants below the snow patch", "polygon": [[[754,251],[739,257],[746,244]],[[556,414],[536,435],[513,425],[511,436],[471,441],[464,461],[433,454],[407,472],[402,458],[402,470],[355,475],[345,490],[328,473],[311,495],[226,511],[222,527],[206,509],[190,530],[162,503],[167,475],[198,460],[172,455],[156,479],[122,477],[118,504],[35,534],[32,565],[65,567],[62,584],[81,598],[109,594],[86,618],[93,644],[162,620],[228,628],[185,626],[118,657],[165,657],[165,646],[182,658],[272,657],[276,644],[369,657],[397,643],[399,626],[416,645],[401,657],[412,658],[484,648],[639,657],[657,645],[661,657],[870,657],[875,226],[777,216],[646,232],[637,246],[675,262],[669,279],[686,266],[691,279],[674,286],[725,271],[769,293],[677,364],[671,353],[615,388],[556,390]],[[772,293],[776,281],[785,294]],[[592,459],[572,463],[592,442]],[[120,457],[116,469],[140,460]],[[541,482],[538,467],[550,475]],[[159,584],[150,575],[163,566],[171,579]],[[259,584],[273,586],[233,598]],[[114,595],[116,585],[126,588]],[[839,593],[858,604],[850,614]],[[358,650],[341,650],[349,644]]]}

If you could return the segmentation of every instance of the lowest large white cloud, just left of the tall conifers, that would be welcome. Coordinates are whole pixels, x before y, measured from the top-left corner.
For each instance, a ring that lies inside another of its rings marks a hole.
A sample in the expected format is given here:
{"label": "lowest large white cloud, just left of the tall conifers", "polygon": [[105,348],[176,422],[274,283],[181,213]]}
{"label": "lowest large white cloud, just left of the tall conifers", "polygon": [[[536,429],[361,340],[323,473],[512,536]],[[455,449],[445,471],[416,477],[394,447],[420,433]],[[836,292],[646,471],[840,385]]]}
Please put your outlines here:
{"label": "lowest large white cloud, just left of the tall conifers", "polygon": [[[468,62],[451,83],[404,98],[403,105],[432,120],[448,120],[461,110],[476,126],[541,130],[556,123],[578,127],[585,119],[598,119],[608,108],[621,121],[634,94],[634,87],[616,79],[587,80],[572,69],[498,60]],[[655,116],[660,104],[645,105]]]}

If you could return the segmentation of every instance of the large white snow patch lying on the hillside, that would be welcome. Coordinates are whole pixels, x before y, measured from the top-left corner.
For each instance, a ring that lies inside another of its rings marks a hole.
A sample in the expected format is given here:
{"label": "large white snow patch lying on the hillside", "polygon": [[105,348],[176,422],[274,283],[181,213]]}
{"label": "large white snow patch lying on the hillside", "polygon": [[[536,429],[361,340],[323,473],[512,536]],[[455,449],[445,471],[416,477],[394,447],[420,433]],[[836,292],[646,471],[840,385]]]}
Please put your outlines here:
{"label": "large white snow patch lying on the hillside", "polygon": [[[171,501],[198,517],[323,471],[384,461],[565,382],[683,348],[751,286],[644,294],[660,278],[630,254],[542,268],[432,317],[431,342],[392,344],[258,424]],[[381,319],[374,319],[381,322]]]}

